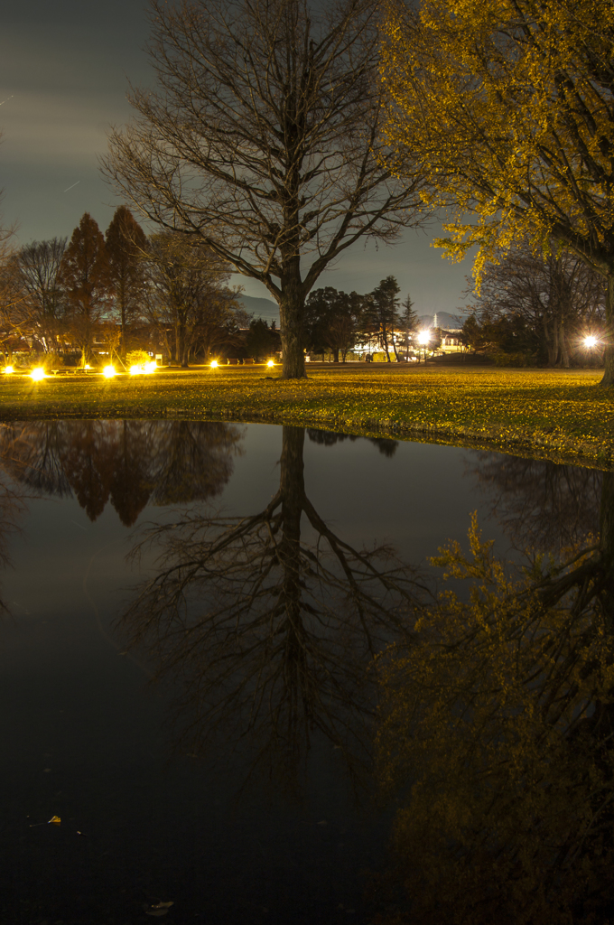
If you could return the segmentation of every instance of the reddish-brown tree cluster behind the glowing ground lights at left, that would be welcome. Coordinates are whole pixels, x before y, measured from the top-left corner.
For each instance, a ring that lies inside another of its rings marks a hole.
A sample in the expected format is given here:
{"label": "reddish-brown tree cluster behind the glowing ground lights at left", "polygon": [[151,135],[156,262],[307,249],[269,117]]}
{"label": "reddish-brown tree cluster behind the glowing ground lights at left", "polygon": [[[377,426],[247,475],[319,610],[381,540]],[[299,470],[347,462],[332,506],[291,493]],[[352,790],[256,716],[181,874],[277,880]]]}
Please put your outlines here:
{"label": "reddish-brown tree cluster behind the glowing ground lights at left", "polygon": [[248,315],[227,265],[184,235],[145,235],[126,206],[103,234],[85,213],[70,241],[32,241],[1,261],[0,349],[53,362],[97,351],[125,359],[156,345],[187,366],[240,342]]}

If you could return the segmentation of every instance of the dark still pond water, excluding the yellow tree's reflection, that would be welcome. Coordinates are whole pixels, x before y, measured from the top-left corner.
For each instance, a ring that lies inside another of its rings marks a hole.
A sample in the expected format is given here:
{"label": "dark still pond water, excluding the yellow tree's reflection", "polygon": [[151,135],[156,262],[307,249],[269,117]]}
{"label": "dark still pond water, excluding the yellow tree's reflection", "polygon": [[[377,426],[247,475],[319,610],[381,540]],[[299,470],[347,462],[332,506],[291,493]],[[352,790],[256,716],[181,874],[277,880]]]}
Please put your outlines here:
{"label": "dark still pond water, excluding the yellow tree's reflection", "polygon": [[369,666],[472,512],[507,561],[558,555],[602,475],[269,425],[0,438],[0,921],[396,914]]}

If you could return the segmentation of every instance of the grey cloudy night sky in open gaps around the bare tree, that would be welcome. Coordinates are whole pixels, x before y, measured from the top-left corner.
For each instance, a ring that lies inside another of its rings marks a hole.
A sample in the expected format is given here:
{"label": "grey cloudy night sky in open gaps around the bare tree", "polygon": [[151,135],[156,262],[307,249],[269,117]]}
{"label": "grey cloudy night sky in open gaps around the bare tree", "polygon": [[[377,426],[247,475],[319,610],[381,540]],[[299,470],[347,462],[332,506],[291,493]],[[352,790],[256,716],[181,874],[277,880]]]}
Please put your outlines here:
{"label": "grey cloudy night sky in open gaps around the bare tree", "polygon": [[[72,233],[84,212],[105,230],[121,202],[99,173],[110,125],[129,120],[129,81],[154,86],[143,46],[142,0],[20,0],[3,9],[0,205],[17,243]],[[4,101],[4,102],[3,102]],[[140,216],[137,216],[138,218]],[[318,286],[367,292],[393,274],[418,314],[462,304],[468,260],[450,264],[430,246],[438,227],[409,231],[394,247],[356,244]],[[252,296],[264,287],[236,277]]]}

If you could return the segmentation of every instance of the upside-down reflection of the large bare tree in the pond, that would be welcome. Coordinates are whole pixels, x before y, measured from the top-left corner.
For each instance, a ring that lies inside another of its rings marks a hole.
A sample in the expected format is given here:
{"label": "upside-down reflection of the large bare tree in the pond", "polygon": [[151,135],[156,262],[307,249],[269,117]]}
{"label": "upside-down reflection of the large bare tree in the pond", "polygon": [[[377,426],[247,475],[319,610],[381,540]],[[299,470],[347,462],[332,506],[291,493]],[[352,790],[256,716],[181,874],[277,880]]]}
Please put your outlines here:
{"label": "upside-down reflection of the large bare tree in the pond", "polygon": [[389,549],[350,547],[315,511],[303,444],[303,428],[283,428],[279,489],[263,511],[154,526],[143,542],[157,545],[161,571],[123,622],[158,676],[180,677],[184,750],[203,754],[219,729],[249,736],[253,766],[289,784],[314,730],[351,771],[368,766],[369,670],[421,590]]}

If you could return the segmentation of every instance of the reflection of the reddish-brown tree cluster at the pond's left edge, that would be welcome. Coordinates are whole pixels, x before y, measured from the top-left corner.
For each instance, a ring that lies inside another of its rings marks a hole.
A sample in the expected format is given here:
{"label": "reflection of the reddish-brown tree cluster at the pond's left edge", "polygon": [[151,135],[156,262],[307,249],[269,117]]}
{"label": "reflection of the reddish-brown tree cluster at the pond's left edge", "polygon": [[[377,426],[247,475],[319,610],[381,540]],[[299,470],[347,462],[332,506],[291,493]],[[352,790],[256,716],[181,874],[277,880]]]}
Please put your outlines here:
{"label": "reflection of the reddish-brown tree cluster at the pond's left edge", "polygon": [[110,500],[131,526],[146,504],[218,495],[243,428],[203,421],[37,421],[0,433],[5,471],[31,490],[73,492],[90,520]]}

